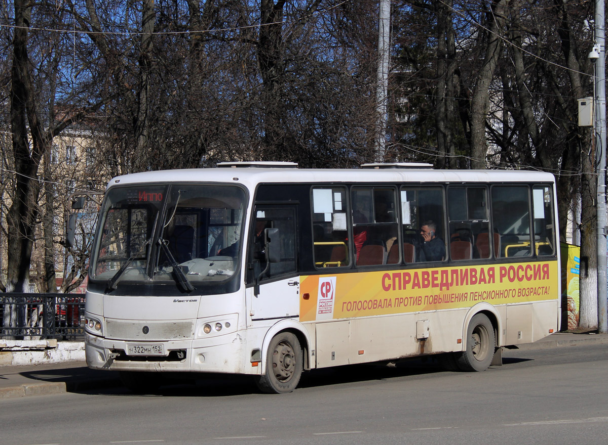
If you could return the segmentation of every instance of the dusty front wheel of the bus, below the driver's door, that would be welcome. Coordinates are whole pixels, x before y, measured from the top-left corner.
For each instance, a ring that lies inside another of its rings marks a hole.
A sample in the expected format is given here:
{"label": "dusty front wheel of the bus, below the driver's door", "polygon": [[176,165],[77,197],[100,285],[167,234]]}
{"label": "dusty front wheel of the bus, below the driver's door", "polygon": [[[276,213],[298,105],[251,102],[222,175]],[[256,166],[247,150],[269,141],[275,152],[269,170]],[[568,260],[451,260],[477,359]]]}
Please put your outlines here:
{"label": "dusty front wheel of the bus, below the driver's door", "polygon": [[282,394],[292,392],[302,375],[302,347],[291,332],[275,335],[268,346],[266,372],[256,379],[261,392]]}

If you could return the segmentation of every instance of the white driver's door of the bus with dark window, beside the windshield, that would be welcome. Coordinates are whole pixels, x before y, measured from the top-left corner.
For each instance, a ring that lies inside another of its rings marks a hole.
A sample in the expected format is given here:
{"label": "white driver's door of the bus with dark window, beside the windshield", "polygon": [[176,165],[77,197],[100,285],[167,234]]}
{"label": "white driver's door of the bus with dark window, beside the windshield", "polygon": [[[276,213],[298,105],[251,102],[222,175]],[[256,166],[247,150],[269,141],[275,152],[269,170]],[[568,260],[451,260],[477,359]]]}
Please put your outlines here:
{"label": "white driver's door of the bus with dark window, beside the windshield", "polygon": [[[247,304],[252,322],[299,316],[296,215],[295,205],[255,206],[247,253]],[[269,245],[276,262],[266,261],[266,229],[278,229]]]}

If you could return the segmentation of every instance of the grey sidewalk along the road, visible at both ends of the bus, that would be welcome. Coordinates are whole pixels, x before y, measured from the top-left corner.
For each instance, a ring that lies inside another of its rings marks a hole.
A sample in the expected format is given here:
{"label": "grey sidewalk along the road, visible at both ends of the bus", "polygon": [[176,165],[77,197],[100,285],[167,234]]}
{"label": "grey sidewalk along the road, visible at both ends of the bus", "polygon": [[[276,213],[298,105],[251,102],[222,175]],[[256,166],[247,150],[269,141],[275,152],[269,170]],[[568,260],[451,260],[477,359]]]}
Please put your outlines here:
{"label": "grey sidewalk along the road, visible at both ends of the bus", "polygon": [[[558,332],[537,342],[519,345],[519,349],[536,350],[592,344],[608,345],[608,334]],[[119,386],[122,386],[122,383],[117,372],[89,369],[83,361],[0,366],[0,399]]]}

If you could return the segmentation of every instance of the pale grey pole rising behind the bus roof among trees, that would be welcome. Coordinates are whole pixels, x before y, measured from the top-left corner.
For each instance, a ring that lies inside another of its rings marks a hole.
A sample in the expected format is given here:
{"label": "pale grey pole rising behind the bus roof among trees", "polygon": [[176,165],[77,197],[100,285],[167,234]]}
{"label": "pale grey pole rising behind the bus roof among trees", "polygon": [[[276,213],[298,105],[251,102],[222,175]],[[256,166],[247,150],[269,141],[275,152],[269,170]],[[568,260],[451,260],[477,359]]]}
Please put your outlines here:
{"label": "pale grey pole rising behind the bus roof among trees", "polygon": [[378,19],[378,75],[376,76],[376,162],[386,157],[387,90],[389,85],[390,0],[380,0]]}

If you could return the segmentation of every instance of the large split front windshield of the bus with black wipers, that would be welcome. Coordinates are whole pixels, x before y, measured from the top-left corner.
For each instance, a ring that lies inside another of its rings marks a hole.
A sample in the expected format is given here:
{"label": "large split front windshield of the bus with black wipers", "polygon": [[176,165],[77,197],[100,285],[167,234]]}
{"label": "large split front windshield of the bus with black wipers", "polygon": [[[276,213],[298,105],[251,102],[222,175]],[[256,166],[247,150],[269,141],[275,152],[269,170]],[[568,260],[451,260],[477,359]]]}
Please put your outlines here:
{"label": "large split front windshield of the bus with black wipers", "polygon": [[241,250],[243,189],[224,185],[131,185],[108,190],[91,279],[119,282],[223,282]]}

